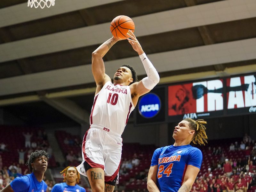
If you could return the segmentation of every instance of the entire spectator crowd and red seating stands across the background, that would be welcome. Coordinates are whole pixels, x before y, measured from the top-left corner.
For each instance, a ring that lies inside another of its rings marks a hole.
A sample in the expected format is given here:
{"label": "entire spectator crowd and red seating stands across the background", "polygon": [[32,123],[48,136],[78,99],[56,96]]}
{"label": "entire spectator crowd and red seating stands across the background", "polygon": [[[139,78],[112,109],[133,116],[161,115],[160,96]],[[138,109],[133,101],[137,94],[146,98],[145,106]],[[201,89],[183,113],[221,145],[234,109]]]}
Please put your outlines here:
{"label": "entire spectator crowd and red seating stands across the background", "polygon": [[[8,143],[0,143],[0,189],[4,188],[15,177],[28,174],[24,163],[29,154],[36,149],[48,151],[52,156],[52,148],[47,135],[39,131],[23,133],[24,147],[19,145],[17,158],[11,164],[4,163],[2,156],[8,153]],[[83,159],[81,155],[82,140],[69,133],[56,132],[65,165],[77,166]],[[243,139],[209,141],[206,146],[199,147],[203,153],[203,163],[191,191],[193,192],[252,192],[256,185],[256,142],[247,134]],[[147,175],[155,146],[140,144],[124,144],[119,169],[119,192],[147,191]],[[3,167],[4,165],[4,167]],[[8,165],[8,167],[7,167]],[[49,164],[50,165],[50,164]],[[54,182],[45,180],[50,192]],[[89,186],[88,186],[89,187]],[[255,187],[256,189],[256,187]],[[90,189],[87,188],[87,191]],[[117,191],[115,191],[117,192]]]}

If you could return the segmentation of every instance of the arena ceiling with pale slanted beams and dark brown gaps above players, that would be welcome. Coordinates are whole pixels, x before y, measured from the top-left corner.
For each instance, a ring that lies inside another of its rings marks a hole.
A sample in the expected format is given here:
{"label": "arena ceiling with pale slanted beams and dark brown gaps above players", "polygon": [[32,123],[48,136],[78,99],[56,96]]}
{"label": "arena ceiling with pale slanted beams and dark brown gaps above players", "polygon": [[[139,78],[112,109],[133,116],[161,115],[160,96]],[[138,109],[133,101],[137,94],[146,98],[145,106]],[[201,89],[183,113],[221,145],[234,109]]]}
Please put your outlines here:
{"label": "arena ceiling with pale slanted beams and dark brown gaps above players", "polygon": [[[31,124],[40,116],[88,123],[91,53],[118,15],[133,19],[160,83],[256,71],[255,0],[56,0],[44,9],[1,0],[0,108]],[[110,77],[123,63],[145,76],[126,40],[104,60]]]}

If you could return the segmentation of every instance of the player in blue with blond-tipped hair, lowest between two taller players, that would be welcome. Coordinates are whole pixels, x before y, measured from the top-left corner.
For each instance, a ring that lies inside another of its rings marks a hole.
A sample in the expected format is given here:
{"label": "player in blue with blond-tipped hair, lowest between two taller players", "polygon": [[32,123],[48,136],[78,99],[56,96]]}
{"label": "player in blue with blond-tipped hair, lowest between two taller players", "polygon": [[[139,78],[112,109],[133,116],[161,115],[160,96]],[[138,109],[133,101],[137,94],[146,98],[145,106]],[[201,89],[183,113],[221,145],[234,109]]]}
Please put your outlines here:
{"label": "player in blue with blond-tipped hair, lowest between two taller players", "polygon": [[64,177],[64,182],[54,185],[52,192],[85,192],[84,188],[76,184],[80,180],[76,167],[66,167],[60,173]]}

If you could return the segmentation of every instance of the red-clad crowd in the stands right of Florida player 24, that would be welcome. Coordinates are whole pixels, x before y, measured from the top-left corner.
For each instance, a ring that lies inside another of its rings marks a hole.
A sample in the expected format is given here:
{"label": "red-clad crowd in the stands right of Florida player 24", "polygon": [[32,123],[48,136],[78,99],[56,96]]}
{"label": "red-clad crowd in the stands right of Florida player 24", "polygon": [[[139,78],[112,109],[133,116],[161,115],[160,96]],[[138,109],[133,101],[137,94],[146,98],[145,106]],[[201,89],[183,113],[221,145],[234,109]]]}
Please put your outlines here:
{"label": "red-clad crowd in the stands right of Florida player 24", "polygon": [[[230,146],[218,146],[202,149],[203,164],[207,172],[201,168],[191,191],[193,192],[247,192],[254,191],[256,185],[256,143],[245,134],[240,144],[238,141]],[[219,157],[217,160],[214,157]],[[203,166],[204,167],[204,166]]]}

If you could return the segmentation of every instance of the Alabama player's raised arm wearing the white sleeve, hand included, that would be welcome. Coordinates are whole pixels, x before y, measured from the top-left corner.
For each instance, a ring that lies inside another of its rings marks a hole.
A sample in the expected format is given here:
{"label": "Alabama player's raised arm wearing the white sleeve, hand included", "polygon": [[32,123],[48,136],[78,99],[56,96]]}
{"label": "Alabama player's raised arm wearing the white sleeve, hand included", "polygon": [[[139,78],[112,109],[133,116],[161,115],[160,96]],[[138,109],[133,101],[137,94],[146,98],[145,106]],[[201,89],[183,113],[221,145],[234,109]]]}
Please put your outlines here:
{"label": "Alabama player's raised arm wearing the white sleeve, hand included", "polygon": [[133,93],[135,93],[134,95],[139,97],[141,95],[148,93],[151,89],[153,89],[156,86],[156,84],[159,82],[160,78],[156,71],[156,68],[153,66],[153,64],[148,59],[147,55],[144,53],[142,47],[140,46],[139,41],[137,40],[133,32],[131,30],[129,30],[129,32],[130,34],[127,34],[127,35],[130,38],[127,40],[132,45],[132,48],[139,54],[140,59],[148,75],[147,77],[143,78],[140,82],[133,83],[131,85],[133,89]]}

